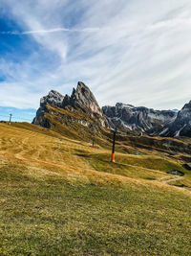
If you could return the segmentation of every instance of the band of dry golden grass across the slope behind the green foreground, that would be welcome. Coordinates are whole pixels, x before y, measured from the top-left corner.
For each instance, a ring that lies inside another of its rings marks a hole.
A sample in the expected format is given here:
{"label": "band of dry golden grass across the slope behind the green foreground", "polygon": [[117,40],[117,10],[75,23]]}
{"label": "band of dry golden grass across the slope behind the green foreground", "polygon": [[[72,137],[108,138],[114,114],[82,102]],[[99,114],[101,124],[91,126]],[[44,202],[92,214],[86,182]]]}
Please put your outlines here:
{"label": "band of dry golden grass across the slope behind the green foreground", "polygon": [[39,128],[42,131],[39,133],[32,130],[32,125],[28,127],[31,129],[0,124],[1,165],[11,163],[25,166],[31,175],[62,175],[71,182],[165,187],[158,181],[168,179],[170,175],[162,172],[162,168],[165,164],[178,164],[155,155],[117,152],[117,164],[114,165],[110,163],[110,151],[106,149],[92,149],[90,143],[52,131],[43,133],[42,128]]}

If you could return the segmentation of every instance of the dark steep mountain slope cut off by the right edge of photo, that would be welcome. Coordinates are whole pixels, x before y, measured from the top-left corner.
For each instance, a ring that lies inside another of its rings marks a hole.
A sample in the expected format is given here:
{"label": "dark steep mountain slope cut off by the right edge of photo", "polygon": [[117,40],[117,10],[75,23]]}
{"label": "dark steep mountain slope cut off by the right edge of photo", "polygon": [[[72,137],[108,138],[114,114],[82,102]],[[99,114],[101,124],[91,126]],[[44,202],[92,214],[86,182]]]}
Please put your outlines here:
{"label": "dark steep mountain slope cut off by the right edge of photo", "polygon": [[191,101],[181,108],[176,119],[166,125],[159,135],[165,137],[191,137]]}

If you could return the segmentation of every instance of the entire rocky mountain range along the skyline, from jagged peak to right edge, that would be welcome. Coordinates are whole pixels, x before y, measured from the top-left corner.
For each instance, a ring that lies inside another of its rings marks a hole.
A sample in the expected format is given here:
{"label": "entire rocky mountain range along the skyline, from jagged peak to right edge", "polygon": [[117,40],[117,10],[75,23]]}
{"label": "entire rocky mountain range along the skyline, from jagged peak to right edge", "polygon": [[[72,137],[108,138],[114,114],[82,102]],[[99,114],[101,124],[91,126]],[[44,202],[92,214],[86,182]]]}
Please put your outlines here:
{"label": "entire rocky mountain range along the skyline, from jagged peak to right edge", "polygon": [[[52,107],[51,107],[52,106]],[[152,136],[191,137],[191,102],[179,111],[154,110],[145,106],[117,103],[103,106],[96,102],[90,89],[81,81],[71,96],[51,91],[41,98],[33,124],[53,128],[57,124],[83,127],[100,132],[102,128],[117,128],[122,133]]]}

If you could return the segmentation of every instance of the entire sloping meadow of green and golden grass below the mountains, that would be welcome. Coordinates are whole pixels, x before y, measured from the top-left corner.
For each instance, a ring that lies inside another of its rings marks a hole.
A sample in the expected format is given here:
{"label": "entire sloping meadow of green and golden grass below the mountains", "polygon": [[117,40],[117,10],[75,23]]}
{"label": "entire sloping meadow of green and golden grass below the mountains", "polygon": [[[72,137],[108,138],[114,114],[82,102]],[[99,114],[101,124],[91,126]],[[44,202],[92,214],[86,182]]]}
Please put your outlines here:
{"label": "entire sloping meadow of green and golden grass below the mountains", "polygon": [[133,153],[0,124],[0,255],[191,255],[180,162]]}

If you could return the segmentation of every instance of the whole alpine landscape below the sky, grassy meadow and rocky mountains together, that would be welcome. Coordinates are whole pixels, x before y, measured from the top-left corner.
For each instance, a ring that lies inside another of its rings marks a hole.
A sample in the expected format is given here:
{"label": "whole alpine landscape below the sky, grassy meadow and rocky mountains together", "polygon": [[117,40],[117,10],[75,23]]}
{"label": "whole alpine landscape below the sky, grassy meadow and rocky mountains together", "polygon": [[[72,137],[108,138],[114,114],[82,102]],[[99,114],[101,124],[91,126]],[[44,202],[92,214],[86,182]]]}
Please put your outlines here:
{"label": "whole alpine landscape below the sky, grassy meadow and rocky mountains together", "polygon": [[148,135],[189,107],[101,109],[78,82],[33,124],[0,123],[0,255],[190,255],[191,139]]}

